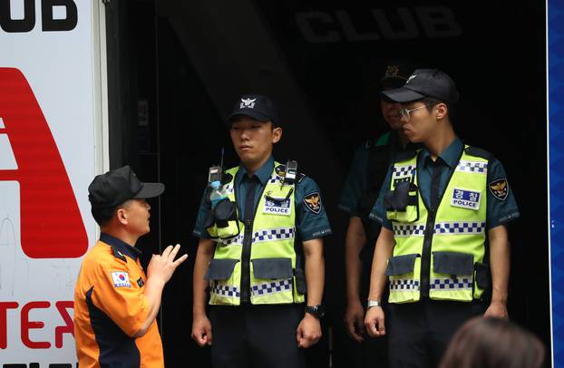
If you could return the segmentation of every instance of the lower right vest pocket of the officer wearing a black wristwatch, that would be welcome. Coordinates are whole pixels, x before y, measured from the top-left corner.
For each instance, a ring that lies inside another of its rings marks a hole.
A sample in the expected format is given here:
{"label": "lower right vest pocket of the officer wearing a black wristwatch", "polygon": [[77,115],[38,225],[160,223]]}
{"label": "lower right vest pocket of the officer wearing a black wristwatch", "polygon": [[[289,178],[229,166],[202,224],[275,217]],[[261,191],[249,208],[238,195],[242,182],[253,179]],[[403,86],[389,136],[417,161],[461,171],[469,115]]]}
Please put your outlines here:
{"label": "lower right vest pocket of the officer wearing a black wristwatch", "polygon": [[290,304],[294,271],[291,258],[251,259],[250,300],[258,304]]}

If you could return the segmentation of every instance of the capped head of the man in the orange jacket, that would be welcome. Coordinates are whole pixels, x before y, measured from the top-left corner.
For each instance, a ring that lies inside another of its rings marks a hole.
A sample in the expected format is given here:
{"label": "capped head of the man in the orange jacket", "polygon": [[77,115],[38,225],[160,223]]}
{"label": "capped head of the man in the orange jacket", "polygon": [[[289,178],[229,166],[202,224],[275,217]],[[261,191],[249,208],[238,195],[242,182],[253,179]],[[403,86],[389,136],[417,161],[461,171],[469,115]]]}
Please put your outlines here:
{"label": "capped head of the man in the orange jacket", "polygon": [[92,217],[103,233],[135,245],[138,237],[150,231],[145,199],[160,196],[162,183],[143,183],[129,166],[96,176],[88,187]]}

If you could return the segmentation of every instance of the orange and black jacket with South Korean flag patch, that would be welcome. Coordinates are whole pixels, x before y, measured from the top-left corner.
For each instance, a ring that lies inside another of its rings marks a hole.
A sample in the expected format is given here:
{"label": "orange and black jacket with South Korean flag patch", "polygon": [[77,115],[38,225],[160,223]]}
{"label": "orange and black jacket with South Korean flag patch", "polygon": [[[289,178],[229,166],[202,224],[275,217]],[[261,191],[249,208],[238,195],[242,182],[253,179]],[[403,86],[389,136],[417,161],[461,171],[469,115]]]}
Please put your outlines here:
{"label": "orange and black jacket with South Korean flag patch", "polygon": [[157,323],[133,338],[149,315],[141,252],[103,234],[83,259],[74,289],[74,337],[81,368],[164,367]]}

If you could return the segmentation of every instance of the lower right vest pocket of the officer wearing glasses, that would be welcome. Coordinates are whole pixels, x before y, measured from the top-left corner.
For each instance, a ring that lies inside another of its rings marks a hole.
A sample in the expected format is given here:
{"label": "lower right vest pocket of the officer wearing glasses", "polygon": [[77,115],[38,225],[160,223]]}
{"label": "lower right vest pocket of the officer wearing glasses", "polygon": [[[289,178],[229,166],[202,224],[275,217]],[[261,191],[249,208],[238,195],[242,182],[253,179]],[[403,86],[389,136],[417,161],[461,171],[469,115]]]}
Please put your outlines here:
{"label": "lower right vest pocket of the officer wearing glasses", "polygon": [[474,257],[468,253],[433,252],[429,297],[472,301]]}

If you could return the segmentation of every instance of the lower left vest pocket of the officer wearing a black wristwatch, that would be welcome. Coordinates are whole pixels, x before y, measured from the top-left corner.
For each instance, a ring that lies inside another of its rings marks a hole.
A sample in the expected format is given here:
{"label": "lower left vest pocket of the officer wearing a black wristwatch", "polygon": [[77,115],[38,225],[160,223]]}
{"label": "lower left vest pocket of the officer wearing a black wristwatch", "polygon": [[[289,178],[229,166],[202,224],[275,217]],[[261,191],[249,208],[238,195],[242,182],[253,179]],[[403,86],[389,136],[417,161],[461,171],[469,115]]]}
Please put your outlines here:
{"label": "lower left vest pocket of the officer wearing a black wristwatch", "polygon": [[210,305],[239,305],[240,263],[238,259],[212,259],[204,279],[209,281]]}

